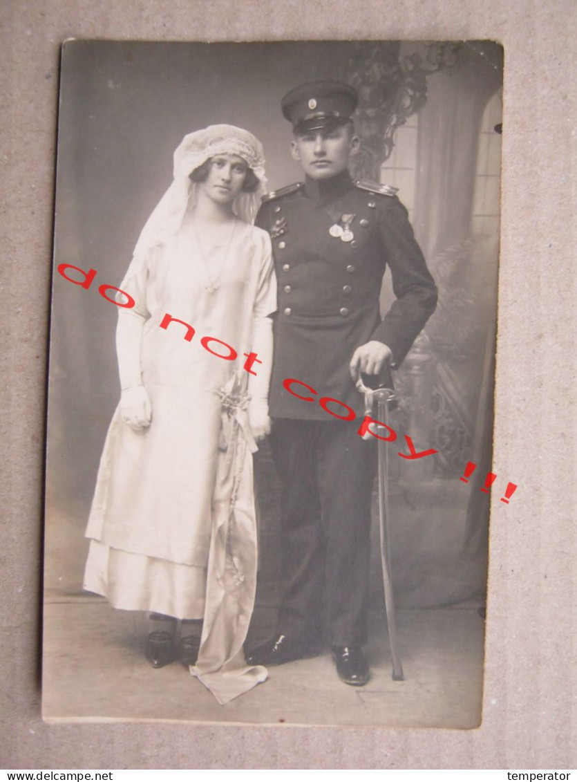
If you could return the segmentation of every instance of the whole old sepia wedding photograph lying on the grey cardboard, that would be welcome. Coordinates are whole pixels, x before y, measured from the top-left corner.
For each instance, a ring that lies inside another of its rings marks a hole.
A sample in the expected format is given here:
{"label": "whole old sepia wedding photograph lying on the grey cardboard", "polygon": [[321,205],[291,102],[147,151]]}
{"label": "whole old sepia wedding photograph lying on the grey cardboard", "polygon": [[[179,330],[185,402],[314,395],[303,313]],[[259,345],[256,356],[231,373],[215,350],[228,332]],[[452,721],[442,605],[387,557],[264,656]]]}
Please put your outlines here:
{"label": "whole old sepia wedding photograph lying on the grey cardboard", "polygon": [[63,45],[44,719],[481,724],[502,85]]}

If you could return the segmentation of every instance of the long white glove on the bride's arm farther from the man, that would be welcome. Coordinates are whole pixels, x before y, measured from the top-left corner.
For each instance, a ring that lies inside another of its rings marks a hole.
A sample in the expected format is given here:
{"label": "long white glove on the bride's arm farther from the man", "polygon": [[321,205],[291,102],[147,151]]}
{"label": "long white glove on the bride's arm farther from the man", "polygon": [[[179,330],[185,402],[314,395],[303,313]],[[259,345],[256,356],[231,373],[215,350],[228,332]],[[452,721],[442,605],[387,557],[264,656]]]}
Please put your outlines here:
{"label": "long white glove on the bride's arm farther from the man", "polygon": [[134,310],[120,310],[116,326],[116,357],[120,375],[120,414],[132,429],[145,429],[152,420],[152,404],[142,385],[140,363],[145,318]]}

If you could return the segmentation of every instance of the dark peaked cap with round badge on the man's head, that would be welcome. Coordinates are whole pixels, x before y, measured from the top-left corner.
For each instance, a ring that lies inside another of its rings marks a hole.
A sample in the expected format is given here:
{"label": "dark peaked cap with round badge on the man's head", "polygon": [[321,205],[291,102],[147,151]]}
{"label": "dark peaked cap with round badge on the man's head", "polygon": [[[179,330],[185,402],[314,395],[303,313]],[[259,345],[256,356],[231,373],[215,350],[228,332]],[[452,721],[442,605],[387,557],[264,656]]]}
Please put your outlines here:
{"label": "dark peaked cap with round badge on the man's head", "polygon": [[358,102],[357,91],[349,84],[312,81],[287,92],[281,106],[293,131],[299,132],[348,122]]}

